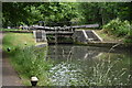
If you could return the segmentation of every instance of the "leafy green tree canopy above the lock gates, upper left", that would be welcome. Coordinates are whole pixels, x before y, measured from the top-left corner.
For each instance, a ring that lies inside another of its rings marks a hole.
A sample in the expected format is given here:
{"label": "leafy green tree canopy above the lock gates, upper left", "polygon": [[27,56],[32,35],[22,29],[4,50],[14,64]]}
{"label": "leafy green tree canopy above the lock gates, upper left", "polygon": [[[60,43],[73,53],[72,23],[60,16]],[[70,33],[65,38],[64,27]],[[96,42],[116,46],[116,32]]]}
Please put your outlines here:
{"label": "leafy green tree canopy above the lock gates, upper left", "polygon": [[3,3],[3,26],[31,25],[36,21],[70,21],[78,16],[76,7],[77,3],[70,2]]}

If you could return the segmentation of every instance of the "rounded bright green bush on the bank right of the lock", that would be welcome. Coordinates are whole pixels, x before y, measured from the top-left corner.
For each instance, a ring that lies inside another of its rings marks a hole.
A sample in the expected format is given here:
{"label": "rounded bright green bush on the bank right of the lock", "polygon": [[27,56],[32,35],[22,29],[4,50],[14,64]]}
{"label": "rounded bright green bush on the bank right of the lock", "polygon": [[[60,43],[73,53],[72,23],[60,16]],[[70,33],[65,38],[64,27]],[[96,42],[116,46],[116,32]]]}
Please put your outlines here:
{"label": "rounded bright green bush on the bank right of the lock", "polygon": [[102,29],[103,33],[119,37],[123,43],[132,43],[131,26],[132,24],[129,21],[117,18],[103,25]]}

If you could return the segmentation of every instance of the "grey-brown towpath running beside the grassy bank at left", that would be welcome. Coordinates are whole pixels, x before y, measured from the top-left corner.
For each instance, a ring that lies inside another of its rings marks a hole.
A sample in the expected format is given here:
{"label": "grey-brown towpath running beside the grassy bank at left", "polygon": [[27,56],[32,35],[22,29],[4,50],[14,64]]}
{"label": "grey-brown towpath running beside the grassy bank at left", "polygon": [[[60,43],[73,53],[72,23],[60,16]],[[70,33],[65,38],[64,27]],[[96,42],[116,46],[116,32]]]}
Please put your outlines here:
{"label": "grey-brown towpath running beside the grassy bank at left", "polygon": [[[2,37],[2,33],[0,33],[0,37]],[[6,53],[2,53],[2,86],[22,86],[22,81],[11,66]]]}

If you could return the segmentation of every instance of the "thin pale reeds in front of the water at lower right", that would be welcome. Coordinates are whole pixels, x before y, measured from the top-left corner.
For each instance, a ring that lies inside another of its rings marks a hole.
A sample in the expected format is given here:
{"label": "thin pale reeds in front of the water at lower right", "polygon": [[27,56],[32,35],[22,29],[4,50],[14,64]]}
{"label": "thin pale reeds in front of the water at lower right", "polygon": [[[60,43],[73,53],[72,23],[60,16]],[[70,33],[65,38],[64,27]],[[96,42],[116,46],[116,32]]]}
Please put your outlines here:
{"label": "thin pale reeds in front of the water at lower right", "polygon": [[129,69],[122,68],[121,70],[114,69],[114,66],[120,61],[96,63],[89,67],[89,76],[84,78],[86,86],[130,86],[131,75]]}

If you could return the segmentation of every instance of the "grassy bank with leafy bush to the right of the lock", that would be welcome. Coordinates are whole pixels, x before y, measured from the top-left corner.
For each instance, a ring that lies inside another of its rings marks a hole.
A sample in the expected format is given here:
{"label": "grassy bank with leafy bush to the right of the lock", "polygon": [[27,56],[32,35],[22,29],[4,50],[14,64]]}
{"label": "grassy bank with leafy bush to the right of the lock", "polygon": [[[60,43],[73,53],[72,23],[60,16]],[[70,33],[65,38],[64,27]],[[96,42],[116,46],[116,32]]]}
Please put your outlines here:
{"label": "grassy bank with leafy bush to the right of the lock", "polygon": [[102,30],[95,32],[107,43],[132,43],[132,24],[120,19],[111,20],[102,26]]}

